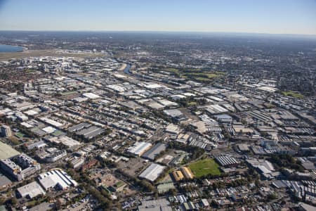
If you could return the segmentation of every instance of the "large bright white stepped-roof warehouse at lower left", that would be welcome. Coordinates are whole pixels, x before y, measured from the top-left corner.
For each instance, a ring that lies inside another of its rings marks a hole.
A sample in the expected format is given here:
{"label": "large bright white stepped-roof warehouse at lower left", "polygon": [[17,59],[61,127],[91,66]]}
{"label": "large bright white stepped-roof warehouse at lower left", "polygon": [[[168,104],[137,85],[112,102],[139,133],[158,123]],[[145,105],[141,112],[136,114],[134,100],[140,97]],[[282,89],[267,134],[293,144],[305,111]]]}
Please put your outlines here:
{"label": "large bright white stepped-roof warehouse at lower left", "polygon": [[51,170],[44,174],[39,174],[39,183],[47,191],[51,188],[58,188],[61,190],[66,190],[70,186],[77,186],[77,181],[74,181],[63,170]]}

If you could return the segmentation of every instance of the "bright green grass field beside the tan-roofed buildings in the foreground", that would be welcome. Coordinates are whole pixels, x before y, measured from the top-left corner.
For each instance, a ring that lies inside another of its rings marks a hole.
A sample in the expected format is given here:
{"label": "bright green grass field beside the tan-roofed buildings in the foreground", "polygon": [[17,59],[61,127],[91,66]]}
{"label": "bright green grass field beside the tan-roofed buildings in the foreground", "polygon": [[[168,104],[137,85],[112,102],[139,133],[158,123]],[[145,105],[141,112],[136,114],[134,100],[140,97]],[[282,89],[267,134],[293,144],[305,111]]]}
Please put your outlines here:
{"label": "bright green grass field beside the tan-roofed buildings in the foreground", "polygon": [[207,174],[220,175],[218,164],[211,158],[205,158],[203,160],[192,162],[189,167],[195,174],[195,177],[202,177]]}

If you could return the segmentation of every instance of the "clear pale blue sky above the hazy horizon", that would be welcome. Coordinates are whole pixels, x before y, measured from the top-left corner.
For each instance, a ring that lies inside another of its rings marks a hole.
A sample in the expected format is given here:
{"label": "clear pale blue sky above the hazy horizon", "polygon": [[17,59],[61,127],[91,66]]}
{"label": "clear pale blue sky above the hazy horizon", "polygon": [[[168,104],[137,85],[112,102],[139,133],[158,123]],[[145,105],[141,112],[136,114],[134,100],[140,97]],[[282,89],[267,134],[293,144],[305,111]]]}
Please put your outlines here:
{"label": "clear pale blue sky above the hazy horizon", "polygon": [[0,0],[0,30],[316,34],[316,0]]}

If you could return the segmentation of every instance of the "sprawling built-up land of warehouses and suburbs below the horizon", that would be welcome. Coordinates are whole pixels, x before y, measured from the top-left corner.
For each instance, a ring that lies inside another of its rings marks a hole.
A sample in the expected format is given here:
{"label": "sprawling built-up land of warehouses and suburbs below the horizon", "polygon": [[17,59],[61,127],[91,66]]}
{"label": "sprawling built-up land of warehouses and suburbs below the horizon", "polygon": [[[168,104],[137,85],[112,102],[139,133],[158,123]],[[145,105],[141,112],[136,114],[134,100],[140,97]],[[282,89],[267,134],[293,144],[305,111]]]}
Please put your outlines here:
{"label": "sprawling built-up land of warehouses and suburbs below the horizon", "polygon": [[249,36],[1,32],[0,210],[316,210],[316,41]]}

